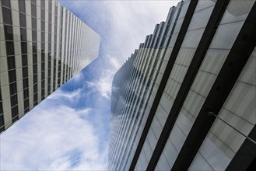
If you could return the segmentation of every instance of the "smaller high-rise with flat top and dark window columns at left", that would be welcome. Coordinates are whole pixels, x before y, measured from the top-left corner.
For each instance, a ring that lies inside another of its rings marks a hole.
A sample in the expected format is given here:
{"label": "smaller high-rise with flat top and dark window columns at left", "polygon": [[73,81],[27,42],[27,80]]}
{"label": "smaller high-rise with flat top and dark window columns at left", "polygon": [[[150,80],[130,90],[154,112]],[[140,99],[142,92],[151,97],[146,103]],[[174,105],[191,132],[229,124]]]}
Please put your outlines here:
{"label": "smaller high-rise with flat top and dark window columns at left", "polygon": [[0,1],[0,132],[98,56],[100,36],[55,0]]}

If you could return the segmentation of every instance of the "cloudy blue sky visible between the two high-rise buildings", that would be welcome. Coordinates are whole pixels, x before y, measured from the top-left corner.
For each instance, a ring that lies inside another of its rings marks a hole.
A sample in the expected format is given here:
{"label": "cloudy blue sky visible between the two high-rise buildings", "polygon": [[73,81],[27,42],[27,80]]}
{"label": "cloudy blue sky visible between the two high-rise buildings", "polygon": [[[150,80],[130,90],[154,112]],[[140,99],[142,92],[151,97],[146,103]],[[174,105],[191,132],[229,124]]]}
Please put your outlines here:
{"label": "cloudy blue sky visible between the two high-rise buildings", "polygon": [[106,170],[114,73],[177,5],[60,2],[100,34],[99,57],[1,134],[1,170]]}

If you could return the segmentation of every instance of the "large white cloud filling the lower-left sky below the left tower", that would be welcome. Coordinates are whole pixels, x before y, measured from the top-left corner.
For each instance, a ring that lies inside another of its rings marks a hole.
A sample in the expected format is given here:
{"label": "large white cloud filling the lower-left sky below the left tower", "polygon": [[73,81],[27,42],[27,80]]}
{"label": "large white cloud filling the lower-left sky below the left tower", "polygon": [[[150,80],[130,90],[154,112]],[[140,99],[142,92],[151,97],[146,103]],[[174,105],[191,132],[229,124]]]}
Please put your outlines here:
{"label": "large white cloud filling the lower-left sky below the left tower", "polygon": [[91,110],[49,103],[1,134],[1,170],[105,170],[107,145],[100,150],[100,134],[85,119]]}

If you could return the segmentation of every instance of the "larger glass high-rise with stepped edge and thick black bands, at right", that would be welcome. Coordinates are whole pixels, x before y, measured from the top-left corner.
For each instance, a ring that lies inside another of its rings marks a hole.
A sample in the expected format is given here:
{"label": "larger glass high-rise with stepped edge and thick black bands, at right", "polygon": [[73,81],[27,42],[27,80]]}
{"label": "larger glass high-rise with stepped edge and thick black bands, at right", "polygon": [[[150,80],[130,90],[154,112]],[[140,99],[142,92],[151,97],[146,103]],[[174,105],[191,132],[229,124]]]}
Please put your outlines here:
{"label": "larger glass high-rise with stepped edge and thick black bands, at right", "polygon": [[171,7],[114,75],[110,170],[254,170],[256,3]]}

